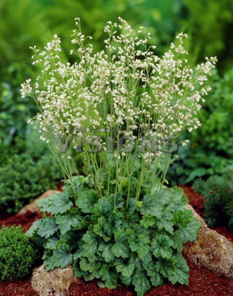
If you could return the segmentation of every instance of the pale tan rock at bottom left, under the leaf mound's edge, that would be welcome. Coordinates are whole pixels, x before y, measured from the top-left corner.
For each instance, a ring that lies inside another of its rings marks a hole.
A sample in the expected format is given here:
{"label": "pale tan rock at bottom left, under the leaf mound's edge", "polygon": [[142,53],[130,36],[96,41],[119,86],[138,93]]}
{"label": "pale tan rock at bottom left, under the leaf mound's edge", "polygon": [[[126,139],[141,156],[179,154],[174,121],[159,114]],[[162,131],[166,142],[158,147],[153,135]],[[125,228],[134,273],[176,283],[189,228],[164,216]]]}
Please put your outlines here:
{"label": "pale tan rock at bottom left, under the leaf mound's edge", "polygon": [[70,284],[76,281],[71,266],[46,271],[41,265],[34,269],[31,282],[39,296],[68,296]]}

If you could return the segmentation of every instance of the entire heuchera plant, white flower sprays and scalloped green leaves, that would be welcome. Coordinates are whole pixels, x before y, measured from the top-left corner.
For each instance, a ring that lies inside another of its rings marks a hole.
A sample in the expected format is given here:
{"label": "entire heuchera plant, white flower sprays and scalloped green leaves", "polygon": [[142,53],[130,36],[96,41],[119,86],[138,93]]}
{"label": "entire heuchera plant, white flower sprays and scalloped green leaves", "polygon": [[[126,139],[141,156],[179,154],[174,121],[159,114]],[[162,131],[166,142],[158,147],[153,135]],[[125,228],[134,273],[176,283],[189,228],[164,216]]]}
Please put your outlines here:
{"label": "entire heuchera plant, white flower sprays and scalloped green leaves", "polygon": [[[108,288],[133,284],[141,296],[164,278],[188,283],[181,251],[196,239],[199,223],[185,209],[182,190],[163,184],[180,133],[200,125],[201,95],[210,90],[203,83],[216,58],[193,71],[182,33],[158,58],[143,27],[137,37],[119,21],[108,22],[106,50],[93,54],[77,18],[73,65],[62,63],[56,35],[44,51],[32,48],[41,75],[33,86],[30,79],[22,84],[22,95],[36,101],[40,113],[32,122],[67,183],[61,194],[38,202],[51,217],[35,222],[28,235],[45,248],[47,269],[72,263],[76,276],[99,278]],[[75,168],[73,148],[86,177]]]}

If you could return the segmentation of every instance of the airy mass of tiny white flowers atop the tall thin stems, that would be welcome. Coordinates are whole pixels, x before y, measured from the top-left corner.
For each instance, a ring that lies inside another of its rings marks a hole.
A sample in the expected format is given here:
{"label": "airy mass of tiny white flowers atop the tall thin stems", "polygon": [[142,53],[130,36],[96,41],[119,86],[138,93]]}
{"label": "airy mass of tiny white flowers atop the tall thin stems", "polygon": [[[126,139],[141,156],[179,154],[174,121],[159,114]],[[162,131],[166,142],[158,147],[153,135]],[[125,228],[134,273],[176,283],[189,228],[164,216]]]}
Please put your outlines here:
{"label": "airy mass of tiny white flowers atop the tall thin stems", "polygon": [[183,33],[159,58],[154,54],[155,46],[148,45],[150,34],[140,27],[135,37],[121,18],[119,24],[108,22],[104,27],[106,49],[94,54],[87,42],[91,37],[85,37],[80,20],[75,21],[71,43],[77,48],[70,53],[77,55],[77,63],[61,62],[61,40],[56,35],[44,51],[33,47],[33,64],[41,65],[41,75],[33,88],[30,79],[22,84],[22,96],[31,93],[40,106],[33,119],[42,131],[71,136],[73,143],[77,136],[88,139],[102,130],[113,132],[117,139],[120,135],[137,140],[153,137],[158,149],[147,151],[143,158],[148,160],[163,156],[167,139],[177,139],[184,129],[191,132],[200,126],[196,115],[204,102],[202,96],[210,90],[204,82],[216,58],[206,58],[195,71],[191,69],[185,58],[188,53],[183,39],[187,35]]}

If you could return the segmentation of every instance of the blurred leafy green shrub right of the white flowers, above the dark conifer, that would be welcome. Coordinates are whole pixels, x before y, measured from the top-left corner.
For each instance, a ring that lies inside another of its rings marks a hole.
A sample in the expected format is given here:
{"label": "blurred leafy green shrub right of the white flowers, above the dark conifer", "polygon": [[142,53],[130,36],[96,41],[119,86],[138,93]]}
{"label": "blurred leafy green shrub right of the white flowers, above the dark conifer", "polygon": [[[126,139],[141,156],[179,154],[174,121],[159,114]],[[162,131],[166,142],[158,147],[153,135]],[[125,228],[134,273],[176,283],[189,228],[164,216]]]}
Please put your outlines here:
{"label": "blurred leafy green shrub right of the white flowers, above the dark conifer", "polygon": [[232,81],[233,69],[222,78],[217,71],[213,72],[209,81],[212,90],[198,113],[201,126],[183,136],[190,143],[179,147],[179,158],[169,168],[167,179],[171,185],[219,174],[233,165]]}

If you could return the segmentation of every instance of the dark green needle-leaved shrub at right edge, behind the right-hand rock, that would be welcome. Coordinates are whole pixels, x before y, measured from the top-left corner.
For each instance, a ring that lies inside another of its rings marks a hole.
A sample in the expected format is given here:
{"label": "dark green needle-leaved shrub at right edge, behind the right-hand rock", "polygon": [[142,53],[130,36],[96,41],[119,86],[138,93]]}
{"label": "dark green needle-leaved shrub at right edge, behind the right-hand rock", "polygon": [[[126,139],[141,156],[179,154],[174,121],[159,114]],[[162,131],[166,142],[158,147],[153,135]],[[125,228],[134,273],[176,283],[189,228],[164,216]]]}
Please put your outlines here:
{"label": "dark green needle-leaved shrub at right edge, behind the right-hand rock", "polygon": [[233,172],[211,176],[206,181],[198,179],[193,188],[204,198],[206,223],[233,228]]}

